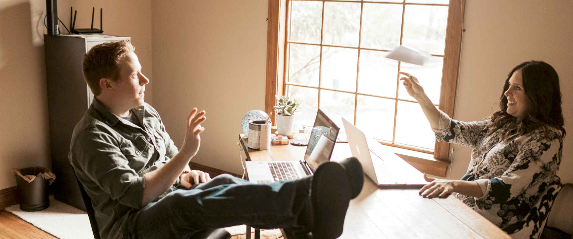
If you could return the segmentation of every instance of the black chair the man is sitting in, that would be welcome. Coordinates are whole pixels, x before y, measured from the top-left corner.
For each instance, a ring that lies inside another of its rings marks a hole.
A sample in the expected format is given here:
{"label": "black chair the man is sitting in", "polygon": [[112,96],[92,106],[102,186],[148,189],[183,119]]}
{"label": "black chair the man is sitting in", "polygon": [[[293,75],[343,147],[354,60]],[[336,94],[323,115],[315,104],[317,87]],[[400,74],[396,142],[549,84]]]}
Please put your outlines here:
{"label": "black chair the man is sitting in", "polygon": [[[92,199],[89,198],[88,193],[85,192],[84,185],[81,184],[80,179],[77,178],[76,171],[74,170],[74,176],[76,176],[77,185],[80,186],[81,198],[84,199],[85,211],[88,213],[89,224],[92,225],[93,238],[101,239],[100,230],[96,222],[96,214],[93,210]],[[231,234],[227,232],[224,228],[214,229],[214,230],[202,230],[193,234],[189,239],[230,239]]]}

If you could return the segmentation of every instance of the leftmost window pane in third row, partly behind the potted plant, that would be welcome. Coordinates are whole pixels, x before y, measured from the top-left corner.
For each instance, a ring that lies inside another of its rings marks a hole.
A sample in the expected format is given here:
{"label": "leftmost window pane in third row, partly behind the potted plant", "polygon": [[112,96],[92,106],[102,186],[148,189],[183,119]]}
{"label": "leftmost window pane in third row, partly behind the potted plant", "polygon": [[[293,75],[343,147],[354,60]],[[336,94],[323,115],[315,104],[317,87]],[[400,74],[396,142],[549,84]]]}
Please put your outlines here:
{"label": "leftmost window pane in third row, partly behind the potted plant", "polygon": [[316,111],[319,108],[319,90],[307,87],[288,85],[288,95],[300,102],[300,109],[295,112],[295,124],[299,126],[312,126],[315,122]]}

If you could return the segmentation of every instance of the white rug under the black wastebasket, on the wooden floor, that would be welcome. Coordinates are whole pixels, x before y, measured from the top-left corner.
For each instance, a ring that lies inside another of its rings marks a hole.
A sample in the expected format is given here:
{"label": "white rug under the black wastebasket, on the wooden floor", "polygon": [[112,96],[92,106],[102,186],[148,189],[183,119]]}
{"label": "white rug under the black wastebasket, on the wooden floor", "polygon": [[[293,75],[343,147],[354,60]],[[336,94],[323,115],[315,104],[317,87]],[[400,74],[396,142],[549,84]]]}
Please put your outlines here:
{"label": "white rug under the black wastebasket, on the wooden floor", "polygon": [[20,205],[6,207],[6,211],[61,239],[92,239],[88,214],[50,196],[50,206],[41,211],[22,211]]}

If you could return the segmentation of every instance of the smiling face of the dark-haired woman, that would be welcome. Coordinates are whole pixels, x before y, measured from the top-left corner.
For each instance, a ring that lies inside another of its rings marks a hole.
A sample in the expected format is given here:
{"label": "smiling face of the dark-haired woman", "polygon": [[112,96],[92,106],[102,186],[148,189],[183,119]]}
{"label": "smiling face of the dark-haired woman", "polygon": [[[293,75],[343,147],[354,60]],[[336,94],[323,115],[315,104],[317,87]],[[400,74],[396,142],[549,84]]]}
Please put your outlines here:
{"label": "smiling face of the dark-haired woman", "polygon": [[505,97],[507,97],[507,113],[516,117],[517,122],[520,122],[527,113],[530,104],[527,95],[525,95],[525,89],[523,88],[521,69],[513,72],[508,84],[509,87],[507,91],[504,92]]}

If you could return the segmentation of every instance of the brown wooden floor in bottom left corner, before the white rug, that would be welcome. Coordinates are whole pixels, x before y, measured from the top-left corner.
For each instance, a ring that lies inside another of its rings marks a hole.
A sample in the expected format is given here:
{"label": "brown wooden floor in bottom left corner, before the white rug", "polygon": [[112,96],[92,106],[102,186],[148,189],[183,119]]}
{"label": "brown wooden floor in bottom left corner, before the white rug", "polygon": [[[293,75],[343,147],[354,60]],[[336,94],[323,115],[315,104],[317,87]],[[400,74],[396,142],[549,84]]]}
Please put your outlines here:
{"label": "brown wooden floor in bottom left corner, before the white rug", "polygon": [[22,220],[22,218],[19,218],[18,216],[15,216],[6,210],[0,210],[0,237],[24,239],[57,239],[57,237],[52,236],[52,234],[37,228],[36,226]]}

